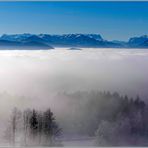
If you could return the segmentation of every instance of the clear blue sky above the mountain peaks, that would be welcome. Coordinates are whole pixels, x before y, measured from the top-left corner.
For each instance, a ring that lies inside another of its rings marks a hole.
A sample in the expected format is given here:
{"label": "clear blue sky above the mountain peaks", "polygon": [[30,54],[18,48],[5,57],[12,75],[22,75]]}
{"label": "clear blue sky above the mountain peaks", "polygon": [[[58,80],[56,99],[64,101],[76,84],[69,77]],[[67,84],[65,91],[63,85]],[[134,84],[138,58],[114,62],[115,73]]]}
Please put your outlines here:
{"label": "clear blue sky above the mountain peaks", "polygon": [[99,33],[128,40],[148,34],[148,2],[0,2],[4,33]]}

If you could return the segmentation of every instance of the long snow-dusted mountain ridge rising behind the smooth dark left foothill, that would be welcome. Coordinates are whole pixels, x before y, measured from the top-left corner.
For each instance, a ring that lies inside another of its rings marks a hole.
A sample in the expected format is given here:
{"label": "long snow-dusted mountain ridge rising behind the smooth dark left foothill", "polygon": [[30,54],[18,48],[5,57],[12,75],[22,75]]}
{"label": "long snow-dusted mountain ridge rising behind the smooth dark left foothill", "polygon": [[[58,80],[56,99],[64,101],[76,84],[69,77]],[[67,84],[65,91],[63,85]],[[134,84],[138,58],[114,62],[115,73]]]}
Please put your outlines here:
{"label": "long snow-dusted mountain ridge rising behind the smooth dark left foothill", "polygon": [[33,41],[53,47],[120,47],[119,44],[104,40],[99,34],[4,34],[0,39],[21,43]]}

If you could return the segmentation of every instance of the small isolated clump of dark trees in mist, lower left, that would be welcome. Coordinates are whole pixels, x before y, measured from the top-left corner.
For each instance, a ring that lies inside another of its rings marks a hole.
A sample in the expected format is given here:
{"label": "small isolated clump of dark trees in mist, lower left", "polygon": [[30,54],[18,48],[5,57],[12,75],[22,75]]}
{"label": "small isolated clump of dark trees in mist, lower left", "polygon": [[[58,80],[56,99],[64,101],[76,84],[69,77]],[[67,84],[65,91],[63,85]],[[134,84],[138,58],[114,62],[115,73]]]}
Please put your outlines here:
{"label": "small isolated clump of dark trees in mist, lower left", "polygon": [[62,130],[50,109],[22,112],[14,108],[8,123],[5,138],[13,146],[61,146],[57,137]]}

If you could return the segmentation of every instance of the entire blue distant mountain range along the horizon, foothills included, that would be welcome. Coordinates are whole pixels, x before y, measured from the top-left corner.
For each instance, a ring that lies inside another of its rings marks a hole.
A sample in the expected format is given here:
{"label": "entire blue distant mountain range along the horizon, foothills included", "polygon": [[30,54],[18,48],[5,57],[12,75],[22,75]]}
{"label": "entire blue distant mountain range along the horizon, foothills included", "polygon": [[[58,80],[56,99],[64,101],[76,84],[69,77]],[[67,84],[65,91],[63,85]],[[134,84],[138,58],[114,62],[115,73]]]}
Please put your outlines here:
{"label": "entire blue distant mountain range along the horizon, foothills included", "polygon": [[130,38],[128,42],[107,41],[99,34],[4,34],[0,49],[53,49],[72,48],[148,48],[148,36]]}

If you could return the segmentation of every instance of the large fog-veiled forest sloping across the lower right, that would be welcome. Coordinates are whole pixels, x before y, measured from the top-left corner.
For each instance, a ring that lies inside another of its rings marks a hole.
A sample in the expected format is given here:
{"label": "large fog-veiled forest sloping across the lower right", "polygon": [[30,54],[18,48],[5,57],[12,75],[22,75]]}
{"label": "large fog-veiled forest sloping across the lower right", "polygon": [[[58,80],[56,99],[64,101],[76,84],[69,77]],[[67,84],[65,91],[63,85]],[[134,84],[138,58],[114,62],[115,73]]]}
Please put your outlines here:
{"label": "large fog-veiled forest sloping across the lower right", "polygon": [[64,131],[95,137],[95,146],[148,146],[148,106],[138,95],[80,91],[60,96],[70,106]]}

